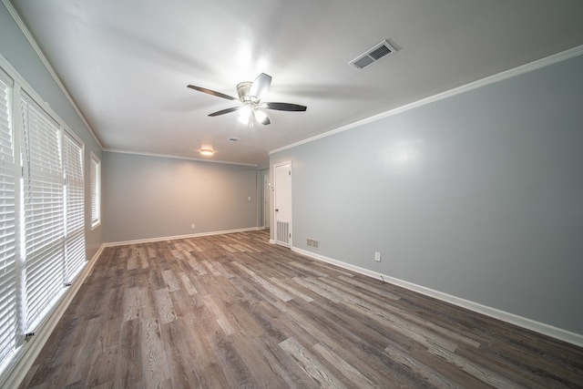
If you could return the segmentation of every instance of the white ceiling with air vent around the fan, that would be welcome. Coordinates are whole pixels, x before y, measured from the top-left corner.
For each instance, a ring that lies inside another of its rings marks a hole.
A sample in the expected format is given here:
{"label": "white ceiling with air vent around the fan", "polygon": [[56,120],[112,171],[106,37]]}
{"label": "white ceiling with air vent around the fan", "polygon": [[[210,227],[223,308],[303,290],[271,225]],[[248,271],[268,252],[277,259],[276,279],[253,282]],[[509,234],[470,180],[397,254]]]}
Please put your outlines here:
{"label": "white ceiling with air vent around the fan", "polygon": [[[12,0],[104,148],[265,166],[268,152],[583,45],[580,0]],[[347,63],[384,39],[397,53]],[[273,77],[248,128],[211,112]],[[240,138],[232,143],[230,137]]]}

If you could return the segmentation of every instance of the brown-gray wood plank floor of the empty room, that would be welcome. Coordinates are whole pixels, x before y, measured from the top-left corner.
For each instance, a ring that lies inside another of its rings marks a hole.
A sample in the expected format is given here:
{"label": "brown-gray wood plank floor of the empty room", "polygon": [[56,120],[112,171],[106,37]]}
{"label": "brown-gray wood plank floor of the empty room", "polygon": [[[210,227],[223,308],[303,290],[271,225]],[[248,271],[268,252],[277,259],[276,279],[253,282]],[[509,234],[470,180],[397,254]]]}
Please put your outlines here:
{"label": "brown-gray wood plank floor of the empty room", "polygon": [[107,248],[21,387],[583,387],[583,349],[266,231]]}

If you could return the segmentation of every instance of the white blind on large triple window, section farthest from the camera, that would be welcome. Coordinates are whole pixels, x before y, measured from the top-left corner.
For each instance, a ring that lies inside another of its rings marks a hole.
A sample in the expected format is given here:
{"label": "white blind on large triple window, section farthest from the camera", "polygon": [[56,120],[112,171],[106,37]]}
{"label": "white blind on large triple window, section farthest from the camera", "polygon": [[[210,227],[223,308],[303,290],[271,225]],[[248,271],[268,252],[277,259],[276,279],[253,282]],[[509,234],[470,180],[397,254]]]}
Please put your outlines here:
{"label": "white blind on large triple window, section farthest from the camera", "polygon": [[65,282],[72,282],[85,262],[85,185],[83,146],[65,133]]}

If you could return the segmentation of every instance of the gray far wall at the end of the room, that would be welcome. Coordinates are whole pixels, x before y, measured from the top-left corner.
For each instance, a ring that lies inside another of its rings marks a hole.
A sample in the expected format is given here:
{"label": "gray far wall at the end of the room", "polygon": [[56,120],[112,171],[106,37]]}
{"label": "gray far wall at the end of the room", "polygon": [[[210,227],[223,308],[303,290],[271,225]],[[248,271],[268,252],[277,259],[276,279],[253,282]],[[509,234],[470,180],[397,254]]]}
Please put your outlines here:
{"label": "gray far wall at the end of the room", "polygon": [[254,167],[115,152],[102,165],[107,242],[257,227]]}

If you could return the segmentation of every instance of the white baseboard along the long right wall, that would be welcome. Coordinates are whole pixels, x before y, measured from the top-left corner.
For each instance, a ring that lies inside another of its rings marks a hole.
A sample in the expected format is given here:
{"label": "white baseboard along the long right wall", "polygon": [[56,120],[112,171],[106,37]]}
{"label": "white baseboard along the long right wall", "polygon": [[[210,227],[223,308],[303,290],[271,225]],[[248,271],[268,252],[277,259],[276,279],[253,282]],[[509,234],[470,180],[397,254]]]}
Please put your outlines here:
{"label": "white baseboard along the long right wall", "polygon": [[405,289],[408,289],[413,292],[418,292],[424,294],[429,297],[433,297],[437,300],[441,300],[444,302],[450,302],[454,305],[459,307],[468,309],[470,311],[478,312],[485,314],[486,316],[492,317],[497,320],[501,320],[503,322],[509,322],[511,324],[515,324],[519,327],[525,328],[527,330],[534,331],[536,333],[542,333],[543,335],[551,336],[555,339],[572,343],[578,345],[579,347],[583,347],[583,335],[579,333],[571,333],[567,330],[563,330],[561,328],[557,328],[550,324],[546,324],[544,322],[537,322],[532,319],[528,319],[523,316],[518,316],[517,314],[505,312],[498,310],[496,308],[489,307],[487,305],[480,304],[478,302],[470,302],[468,300],[453,296],[451,294],[447,294],[444,292],[435,291],[430,288],[426,288],[421,285],[414,284],[413,282],[406,282],[404,280],[399,280],[397,278],[381,274],[376,271],[370,271],[368,269],[361,268],[359,266],[351,265],[350,263],[345,263],[343,261],[333,260],[332,258],[324,257],[323,255],[316,254],[312,251],[306,251],[302,249],[298,249],[296,247],[292,247],[292,251],[298,252],[306,257],[310,257],[317,261],[323,261],[327,263],[332,263],[332,265],[336,265],[343,269],[347,269],[350,271],[355,271],[360,274],[372,277],[377,280],[383,280],[384,282],[393,283],[394,285],[401,286]]}

